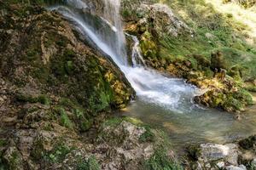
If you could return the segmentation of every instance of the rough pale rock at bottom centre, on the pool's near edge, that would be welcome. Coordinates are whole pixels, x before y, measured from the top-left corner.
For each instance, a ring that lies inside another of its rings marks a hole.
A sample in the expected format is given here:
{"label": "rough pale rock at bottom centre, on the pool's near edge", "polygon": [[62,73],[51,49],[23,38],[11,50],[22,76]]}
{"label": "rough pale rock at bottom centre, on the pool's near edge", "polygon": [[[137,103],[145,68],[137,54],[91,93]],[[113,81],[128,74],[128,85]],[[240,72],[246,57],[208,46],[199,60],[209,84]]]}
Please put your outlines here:
{"label": "rough pale rock at bottom centre, on the pool's near edge", "polygon": [[144,127],[137,127],[131,122],[103,127],[99,141],[104,141],[105,144],[96,146],[96,150],[108,150],[108,162],[103,162],[103,169],[139,169],[140,161],[147,160],[154,154],[153,144],[140,142],[145,132]]}

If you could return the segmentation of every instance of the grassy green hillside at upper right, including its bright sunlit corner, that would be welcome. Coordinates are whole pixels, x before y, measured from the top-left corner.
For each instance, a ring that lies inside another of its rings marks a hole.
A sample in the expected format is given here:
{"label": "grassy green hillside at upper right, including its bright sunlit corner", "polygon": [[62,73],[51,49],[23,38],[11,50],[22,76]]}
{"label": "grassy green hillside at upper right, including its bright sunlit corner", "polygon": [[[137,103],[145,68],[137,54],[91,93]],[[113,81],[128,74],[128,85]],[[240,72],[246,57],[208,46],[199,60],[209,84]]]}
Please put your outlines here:
{"label": "grassy green hillside at upper right, including its bright sunlit corner", "polygon": [[[223,4],[218,0],[176,0],[172,3],[165,1],[165,3],[175,9],[195,31],[195,37],[186,35],[178,38],[166,37],[160,41],[163,47],[160,54],[183,55],[188,58],[192,53],[201,54],[209,59],[212,52],[219,50],[229,63],[229,68],[233,65],[248,68],[249,75],[242,78],[246,80],[249,77],[255,77],[256,70],[253,65],[256,65],[256,48],[253,43],[248,43],[246,40],[250,32],[246,24],[247,20],[255,23],[253,15],[247,18],[252,12],[239,8],[234,3]],[[242,11],[242,16],[238,19],[239,11]]]}

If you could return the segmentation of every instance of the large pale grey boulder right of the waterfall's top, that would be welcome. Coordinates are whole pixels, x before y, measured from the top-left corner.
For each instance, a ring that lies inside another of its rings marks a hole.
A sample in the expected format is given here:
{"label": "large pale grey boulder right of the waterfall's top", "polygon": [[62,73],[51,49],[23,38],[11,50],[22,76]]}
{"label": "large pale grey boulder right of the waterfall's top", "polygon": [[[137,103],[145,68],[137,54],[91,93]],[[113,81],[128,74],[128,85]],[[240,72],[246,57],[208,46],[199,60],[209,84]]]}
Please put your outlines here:
{"label": "large pale grey boulder right of the waterfall's top", "polygon": [[[127,31],[132,31],[131,20],[137,20],[137,32],[154,31],[159,37],[177,37],[182,34],[193,36],[193,31],[183,20],[174,14],[172,8],[163,3],[137,3],[131,5],[122,2],[121,8],[124,19],[128,22]],[[131,28],[129,28],[131,26]]]}

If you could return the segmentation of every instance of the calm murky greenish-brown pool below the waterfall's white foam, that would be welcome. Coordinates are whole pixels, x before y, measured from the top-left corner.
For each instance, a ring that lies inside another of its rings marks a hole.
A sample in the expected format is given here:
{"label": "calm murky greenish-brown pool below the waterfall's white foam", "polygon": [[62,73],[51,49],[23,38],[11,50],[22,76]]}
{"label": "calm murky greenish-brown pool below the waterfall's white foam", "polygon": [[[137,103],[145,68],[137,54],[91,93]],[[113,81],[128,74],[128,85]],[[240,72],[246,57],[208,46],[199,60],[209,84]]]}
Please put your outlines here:
{"label": "calm murky greenish-brown pool below the waterfall's white foam", "polygon": [[171,111],[138,98],[118,114],[139,118],[164,130],[177,147],[206,142],[223,144],[256,134],[256,105],[248,107],[237,120],[234,114],[224,111],[196,105],[183,112]]}

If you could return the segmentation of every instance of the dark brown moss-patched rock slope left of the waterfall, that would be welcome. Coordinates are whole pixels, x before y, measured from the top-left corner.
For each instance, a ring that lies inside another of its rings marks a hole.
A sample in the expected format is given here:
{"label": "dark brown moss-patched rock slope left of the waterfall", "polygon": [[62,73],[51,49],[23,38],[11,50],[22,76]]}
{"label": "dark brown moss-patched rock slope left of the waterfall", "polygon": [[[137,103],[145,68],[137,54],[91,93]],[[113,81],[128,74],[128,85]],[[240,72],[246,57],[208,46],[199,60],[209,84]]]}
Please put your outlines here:
{"label": "dark brown moss-patched rock slope left of the waterfall", "polygon": [[110,59],[43,3],[51,2],[0,1],[0,169],[77,168],[78,155],[93,155],[104,115],[135,94]]}

